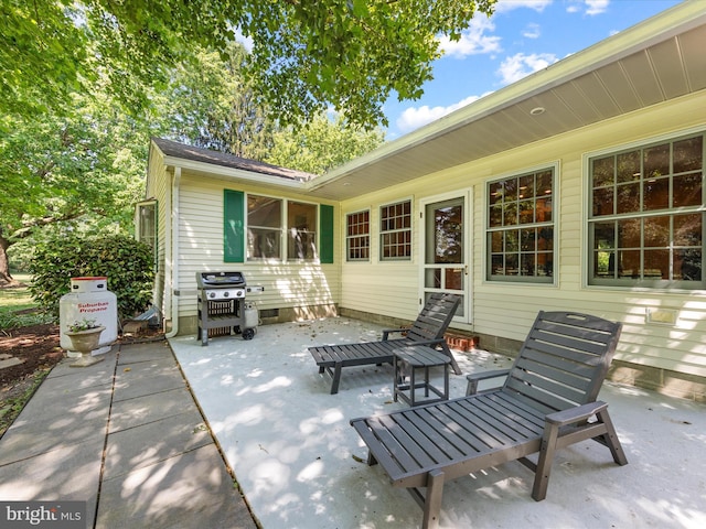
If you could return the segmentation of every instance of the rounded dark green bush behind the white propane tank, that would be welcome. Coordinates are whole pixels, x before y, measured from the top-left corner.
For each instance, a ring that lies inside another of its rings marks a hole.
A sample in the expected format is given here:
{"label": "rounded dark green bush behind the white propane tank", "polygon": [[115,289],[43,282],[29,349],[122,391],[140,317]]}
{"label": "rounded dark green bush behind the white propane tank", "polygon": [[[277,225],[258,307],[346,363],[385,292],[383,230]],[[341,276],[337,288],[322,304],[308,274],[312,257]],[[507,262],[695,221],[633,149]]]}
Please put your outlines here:
{"label": "rounded dark green bush behind the white propane tank", "polygon": [[71,278],[107,277],[120,320],[145,312],[154,279],[151,248],[126,235],[52,237],[34,248],[30,273],[32,298],[55,319]]}

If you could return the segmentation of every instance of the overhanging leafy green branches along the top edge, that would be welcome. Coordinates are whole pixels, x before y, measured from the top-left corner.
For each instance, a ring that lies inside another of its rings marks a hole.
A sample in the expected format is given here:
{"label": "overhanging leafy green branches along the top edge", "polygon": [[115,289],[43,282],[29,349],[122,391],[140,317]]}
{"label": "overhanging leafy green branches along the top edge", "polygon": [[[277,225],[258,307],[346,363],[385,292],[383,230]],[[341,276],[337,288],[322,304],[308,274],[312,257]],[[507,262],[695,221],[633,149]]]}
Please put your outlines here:
{"label": "overhanging leafy green branches along the top edge", "polygon": [[[252,39],[247,72],[282,125],[333,106],[386,123],[382,105],[421,95],[438,36],[458,39],[496,0],[0,0],[0,111],[66,108],[105,74],[129,108],[202,46]],[[96,47],[94,48],[93,45]]]}

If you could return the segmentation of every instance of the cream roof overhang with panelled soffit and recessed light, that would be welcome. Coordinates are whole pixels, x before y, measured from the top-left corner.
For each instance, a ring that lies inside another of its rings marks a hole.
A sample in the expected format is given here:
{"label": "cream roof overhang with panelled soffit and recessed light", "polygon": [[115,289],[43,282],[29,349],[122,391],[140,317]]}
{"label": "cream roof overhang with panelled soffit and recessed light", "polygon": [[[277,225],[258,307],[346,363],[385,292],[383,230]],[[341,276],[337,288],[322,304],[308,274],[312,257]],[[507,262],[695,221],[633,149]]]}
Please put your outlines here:
{"label": "cream roof overhang with panelled soffit and recessed light", "polygon": [[303,186],[343,201],[705,90],[705,50],[706,10],[686,1]]}

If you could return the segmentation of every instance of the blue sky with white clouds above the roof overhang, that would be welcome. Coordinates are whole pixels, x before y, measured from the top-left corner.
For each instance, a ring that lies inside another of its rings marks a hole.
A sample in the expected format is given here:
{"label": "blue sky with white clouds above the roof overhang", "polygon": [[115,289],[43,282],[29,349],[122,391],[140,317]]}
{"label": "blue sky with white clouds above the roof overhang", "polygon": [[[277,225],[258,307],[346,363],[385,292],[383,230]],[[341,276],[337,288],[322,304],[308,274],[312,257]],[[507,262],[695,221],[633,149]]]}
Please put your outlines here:
{"label": "blue sky with white clouds above the roof overhang", "polygon": [[[704,1],[706,6],[706,0]],[[477,14],[434,64],[434,80],[415,101],[384,107],[394,140],[522,77],[664,11],[680,0],[500,0]]]}

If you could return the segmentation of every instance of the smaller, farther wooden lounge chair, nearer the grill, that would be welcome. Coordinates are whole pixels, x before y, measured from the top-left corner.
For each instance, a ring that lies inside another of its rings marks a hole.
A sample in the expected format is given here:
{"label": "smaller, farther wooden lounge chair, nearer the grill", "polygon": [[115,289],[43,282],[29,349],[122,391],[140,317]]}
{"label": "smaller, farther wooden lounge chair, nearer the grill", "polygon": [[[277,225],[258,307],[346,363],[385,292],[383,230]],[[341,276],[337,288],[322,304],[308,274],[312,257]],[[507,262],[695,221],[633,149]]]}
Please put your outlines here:
{"label": "smaller, farther wooden lounge chair, nearer the grill", "polygon": [[[428,345],[441,348],[451,357],[453,373],[461,375],[461,370],[443,338],[443,333],[451,323],[460,300],[460,296],[456,294],[431,294],[410,328],[383,331],[382,342],[309,347],[309,352],[319,366],[319,373],[325,370],[331,375],[331,395],[339,392],[341,370],[344,367],[392,364],[395,349],[408,345]],[[405,333],[405,336],[387,339],[392,333]]]}

